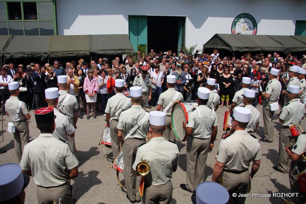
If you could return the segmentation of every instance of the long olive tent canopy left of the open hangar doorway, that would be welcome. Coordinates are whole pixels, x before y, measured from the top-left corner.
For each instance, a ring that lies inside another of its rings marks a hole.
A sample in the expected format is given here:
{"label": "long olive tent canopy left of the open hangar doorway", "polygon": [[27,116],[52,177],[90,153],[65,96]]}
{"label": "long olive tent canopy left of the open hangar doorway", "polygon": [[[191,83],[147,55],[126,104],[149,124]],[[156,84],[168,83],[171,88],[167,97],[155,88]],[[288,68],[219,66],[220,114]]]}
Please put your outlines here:
{"label": "long olive tent canopy left of the open hangar doorway", "polygon": [[[0,35],[1,36],[1,35]],[[128,35],[2,35],[0,51],[8,58],[84,57],[134,54]],[[0,54],[1,56],[1,54]]]}

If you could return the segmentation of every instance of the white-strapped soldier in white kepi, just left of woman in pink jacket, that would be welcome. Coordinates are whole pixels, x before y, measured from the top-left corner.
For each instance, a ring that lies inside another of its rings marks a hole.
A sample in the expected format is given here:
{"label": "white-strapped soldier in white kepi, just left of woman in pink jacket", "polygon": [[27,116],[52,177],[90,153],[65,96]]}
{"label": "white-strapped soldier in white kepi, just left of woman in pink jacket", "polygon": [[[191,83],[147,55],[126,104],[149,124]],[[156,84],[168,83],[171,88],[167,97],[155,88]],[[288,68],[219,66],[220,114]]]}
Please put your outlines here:
{"label": "white-strapped soldier in white kepi, just left of woman in pink jacket", "polygon": [[[79,105],[77,103],[76,97],[74,95],[68,94],[67,90],[67,76],[58,76],[58,105],[57,109],[58,111],[61,111],[62,113],[65,113],[70,123],[73,125],[73,127],[76,129],[76,122],[79,117]],[[76,150],[75,147],[75,137],[68,137],[69,139],[69,145],[73,153]]]}

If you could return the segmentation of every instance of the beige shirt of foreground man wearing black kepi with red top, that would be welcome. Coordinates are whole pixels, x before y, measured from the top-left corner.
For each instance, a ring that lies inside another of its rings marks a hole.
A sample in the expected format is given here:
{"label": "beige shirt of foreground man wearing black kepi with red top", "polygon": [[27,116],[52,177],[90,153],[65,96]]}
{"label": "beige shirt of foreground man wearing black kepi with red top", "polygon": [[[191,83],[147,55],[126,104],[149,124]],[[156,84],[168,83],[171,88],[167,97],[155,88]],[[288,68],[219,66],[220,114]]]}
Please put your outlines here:
{"label": "beige shirt of foreground man wearing black kepi with red top", "polygon": [[20,166],[31,170],[35,184],[55,187],[69,180],[68,170],[77,167],[79,161],[69,145],[52,134],[40,134],[24,146]]}

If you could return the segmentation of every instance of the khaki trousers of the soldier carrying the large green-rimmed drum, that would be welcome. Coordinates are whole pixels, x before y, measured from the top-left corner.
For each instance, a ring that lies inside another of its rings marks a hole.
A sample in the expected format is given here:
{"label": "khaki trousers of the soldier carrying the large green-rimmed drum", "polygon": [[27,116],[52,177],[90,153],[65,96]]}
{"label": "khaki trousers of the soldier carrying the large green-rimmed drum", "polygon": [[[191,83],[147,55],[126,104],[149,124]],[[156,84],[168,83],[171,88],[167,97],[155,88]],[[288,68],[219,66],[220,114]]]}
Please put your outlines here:
{"label": "khaki trousers of the soldier carrying the large green-rimmed drum", "polygon": [[204,169],[207,160],[210,139],[198,139],[190,136],[186,149],[186,187],[195,191],[198,184],[204,181]]}

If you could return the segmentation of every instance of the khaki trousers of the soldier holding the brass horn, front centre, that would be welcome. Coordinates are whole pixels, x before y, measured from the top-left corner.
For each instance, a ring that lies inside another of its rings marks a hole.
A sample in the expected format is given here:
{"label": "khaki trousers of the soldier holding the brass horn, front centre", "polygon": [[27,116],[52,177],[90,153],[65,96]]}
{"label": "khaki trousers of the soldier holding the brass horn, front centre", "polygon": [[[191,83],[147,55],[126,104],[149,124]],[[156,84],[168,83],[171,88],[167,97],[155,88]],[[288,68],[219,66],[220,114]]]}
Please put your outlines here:
{"label": "khaki trousers of the soldier holding the brass horn, front centre", "polygon": [[172,201],[173,186],[171,181],[162,185],[144,184],[144,195],[141,197],[143,204],[168,204]]}

